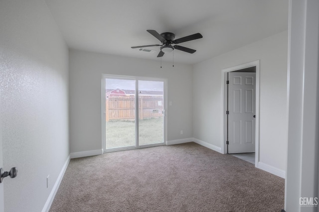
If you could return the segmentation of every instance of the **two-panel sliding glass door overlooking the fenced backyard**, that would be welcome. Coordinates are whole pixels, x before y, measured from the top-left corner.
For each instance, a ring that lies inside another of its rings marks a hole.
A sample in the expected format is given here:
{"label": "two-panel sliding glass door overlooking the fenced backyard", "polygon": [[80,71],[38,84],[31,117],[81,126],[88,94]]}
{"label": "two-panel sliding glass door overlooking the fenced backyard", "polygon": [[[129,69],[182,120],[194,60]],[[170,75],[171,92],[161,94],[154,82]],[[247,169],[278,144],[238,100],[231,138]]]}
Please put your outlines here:
{"label": "two-panel sliding glass door overlooking the fenced backyard", "polygon": [[164,144],[165,85],[162,79],[103,77],[104,151]]}

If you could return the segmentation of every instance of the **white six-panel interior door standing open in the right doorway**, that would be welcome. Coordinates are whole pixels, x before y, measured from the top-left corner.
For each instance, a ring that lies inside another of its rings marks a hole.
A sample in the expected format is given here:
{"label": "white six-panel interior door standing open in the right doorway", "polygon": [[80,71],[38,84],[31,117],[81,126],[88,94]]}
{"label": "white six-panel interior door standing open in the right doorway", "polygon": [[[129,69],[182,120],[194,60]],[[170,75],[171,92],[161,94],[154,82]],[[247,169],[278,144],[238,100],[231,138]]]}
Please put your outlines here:
{"label": "white six-panel interior door standing open in the right doorway", "polygon": [[255,152],[255,79],[256,73],[228,73],[228,153]]}

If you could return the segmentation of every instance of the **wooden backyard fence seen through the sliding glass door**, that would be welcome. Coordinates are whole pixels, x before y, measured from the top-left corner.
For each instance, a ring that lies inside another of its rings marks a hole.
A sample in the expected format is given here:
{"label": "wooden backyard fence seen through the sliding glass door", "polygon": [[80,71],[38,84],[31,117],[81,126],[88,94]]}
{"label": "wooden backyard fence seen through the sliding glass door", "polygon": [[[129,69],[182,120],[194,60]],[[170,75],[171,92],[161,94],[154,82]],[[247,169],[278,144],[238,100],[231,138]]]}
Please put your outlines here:
{"label": "wooden backyard fence seen through the sliding glass door", "polygon": [[[111,95],[106,99],[106,121],[135,118],[135,96]],[[163,96],[140,96],[139,118],[161,117],[164,108]]]}

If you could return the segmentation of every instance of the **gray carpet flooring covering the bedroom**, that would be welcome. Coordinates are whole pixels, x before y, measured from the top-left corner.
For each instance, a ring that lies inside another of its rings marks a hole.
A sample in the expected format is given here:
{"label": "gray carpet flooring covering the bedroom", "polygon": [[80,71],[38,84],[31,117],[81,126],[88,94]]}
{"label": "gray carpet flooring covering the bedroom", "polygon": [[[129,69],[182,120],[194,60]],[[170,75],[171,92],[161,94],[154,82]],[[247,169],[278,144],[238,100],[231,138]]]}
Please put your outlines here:
{"label": "gray carpet flooring covering the bedroom", "polygon": [[284,184],[191,142],[72,159],[50,212],[280,212]]}

